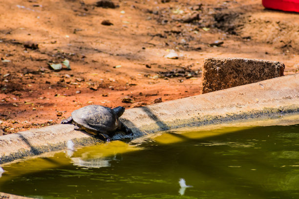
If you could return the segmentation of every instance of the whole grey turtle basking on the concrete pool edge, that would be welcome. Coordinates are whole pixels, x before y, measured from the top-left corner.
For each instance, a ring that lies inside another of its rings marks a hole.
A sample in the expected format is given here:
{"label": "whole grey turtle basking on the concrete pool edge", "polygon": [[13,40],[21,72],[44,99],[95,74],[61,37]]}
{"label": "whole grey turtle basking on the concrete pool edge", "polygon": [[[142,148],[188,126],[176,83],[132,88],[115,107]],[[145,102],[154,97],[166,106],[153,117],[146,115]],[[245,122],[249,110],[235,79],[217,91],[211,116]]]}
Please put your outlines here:
{"label": "whole grey turtle basking on the concrete pool edge", "polygon": [[74,130],[85,130],[107,141],[116,130],[132,135],[132,130],[119,120],[124,112],[123,106],[111,109],[101,105],[88,105],[73,111],[72,116],[62,120],[61,123],[73,123]]}

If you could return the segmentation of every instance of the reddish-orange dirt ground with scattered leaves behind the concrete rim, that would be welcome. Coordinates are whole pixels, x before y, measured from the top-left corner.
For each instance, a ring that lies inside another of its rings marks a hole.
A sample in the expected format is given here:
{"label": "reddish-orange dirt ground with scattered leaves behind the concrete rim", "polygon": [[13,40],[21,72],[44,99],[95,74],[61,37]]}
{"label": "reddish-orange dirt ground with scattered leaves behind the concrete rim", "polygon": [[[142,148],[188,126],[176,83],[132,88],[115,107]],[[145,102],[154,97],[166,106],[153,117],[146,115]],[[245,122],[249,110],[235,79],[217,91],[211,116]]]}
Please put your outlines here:
{"label": "reddish-orange dirt ground with scattered leaves behind the concrete rim", "polygon": [[[89,104],[128,109],[198,95],[208,57],[299,71],[299,15],[261,0],[113,2],[0,0],[0,135],[59,123]],[[172,50],[178,59],[164,57]],[[64,60],[70,70],[48,65]]]}

